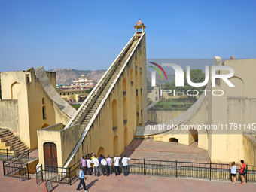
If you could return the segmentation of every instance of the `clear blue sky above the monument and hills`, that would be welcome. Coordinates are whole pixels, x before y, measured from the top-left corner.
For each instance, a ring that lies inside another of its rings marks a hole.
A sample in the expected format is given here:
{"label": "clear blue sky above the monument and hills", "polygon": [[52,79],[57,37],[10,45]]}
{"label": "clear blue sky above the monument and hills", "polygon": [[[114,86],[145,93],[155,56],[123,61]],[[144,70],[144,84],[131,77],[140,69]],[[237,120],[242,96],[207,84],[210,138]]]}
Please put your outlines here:
{"label": "clear blue sky above the monument and hills", "polygon": [[256,58],[256,1],[0,0],[0,72],[108,69],[141,19],[148,59]]}

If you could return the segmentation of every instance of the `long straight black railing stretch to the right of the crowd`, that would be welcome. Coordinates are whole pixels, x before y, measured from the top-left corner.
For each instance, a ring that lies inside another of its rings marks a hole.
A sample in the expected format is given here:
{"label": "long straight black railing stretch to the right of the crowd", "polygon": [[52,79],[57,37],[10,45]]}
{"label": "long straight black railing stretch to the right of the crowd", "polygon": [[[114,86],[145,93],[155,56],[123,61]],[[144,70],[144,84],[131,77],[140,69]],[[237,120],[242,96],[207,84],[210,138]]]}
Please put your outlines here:
{"label": "long straight black railing stretch to the right of the crowd", "polygon": [[[165,160],[129,160],[128,172],[141,175],[160,175],[176,178],[203,178],[230,180],[230,165],[221,163],[194,163]],[[239,173],[239,170],[237,170]],[[239,174],[236,174],[239,179]],[[248,166],[246,182],[256,182],[256,166]]]}

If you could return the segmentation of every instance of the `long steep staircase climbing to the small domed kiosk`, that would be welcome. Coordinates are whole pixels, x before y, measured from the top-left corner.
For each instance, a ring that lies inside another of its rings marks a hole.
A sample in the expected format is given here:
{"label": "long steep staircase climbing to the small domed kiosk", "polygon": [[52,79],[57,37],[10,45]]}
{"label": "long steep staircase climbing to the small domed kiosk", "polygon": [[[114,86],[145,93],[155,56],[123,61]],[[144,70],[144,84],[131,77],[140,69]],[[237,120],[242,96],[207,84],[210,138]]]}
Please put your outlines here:
{"label": "long steep staircase climbing to the small domed kiosk", "polygon": [[109,88],[114,83],[115,78],[117,78],[117,75],[119,74],[126,60],[130,56],[130,53],[133,51],[133,48],[136,46],[138,40],[138,38],[134,38],[130,45],[126,48],[126,50],[123,51],[123,55],[120,55],[115,63],[116,65],[114,65],[112,69],[108,71],[101,84],[96,87],[96,90],[93,91],[93,94],[90,96],[83,108],[81,108],[78,115],[73,120],[72,125],[75,125],[76,123],[81,123],[81,133],[84,132],[88,123],[93,117],[93,114],[95,114],[96,110],[99,108],[102,99],[105,97]]}

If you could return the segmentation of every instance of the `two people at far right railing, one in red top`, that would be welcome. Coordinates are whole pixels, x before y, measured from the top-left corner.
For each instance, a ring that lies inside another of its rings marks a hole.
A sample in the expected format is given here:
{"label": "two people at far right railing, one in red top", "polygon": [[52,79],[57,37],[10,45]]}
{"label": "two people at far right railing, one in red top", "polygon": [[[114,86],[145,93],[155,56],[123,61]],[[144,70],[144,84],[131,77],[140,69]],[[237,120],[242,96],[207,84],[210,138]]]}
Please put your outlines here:
{"label": "two people at far right railing, one in red top", "polygon": [[245,163],[244,160],[240,160],[241,164],[240,163],[236,163],[236,162],[232,162],[230,163],[230,166],[231,166],[231,179],[232,179],[232,183],[233,184],[236,184],[236,167],[239,166],[240,167],[240,170],[239,170],[239,175],[241,177],[241,183],[240,184],[245,184],[245,174],[247,172],[247,169],[246,169],[246,165],[248,163]]}

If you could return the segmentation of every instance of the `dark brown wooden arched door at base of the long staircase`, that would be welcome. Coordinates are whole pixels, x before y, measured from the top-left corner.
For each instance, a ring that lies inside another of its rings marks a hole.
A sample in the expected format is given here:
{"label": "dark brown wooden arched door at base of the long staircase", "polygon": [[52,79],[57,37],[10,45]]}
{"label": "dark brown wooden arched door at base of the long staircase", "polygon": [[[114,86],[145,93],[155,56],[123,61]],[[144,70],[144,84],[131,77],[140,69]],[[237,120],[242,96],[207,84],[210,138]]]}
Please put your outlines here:
{"label": "dark brown wooden arched door at base of the long staircase", "polygon": [[53,142],[44,143],[44,166],[47,171],[58,171],[57,148]]}

